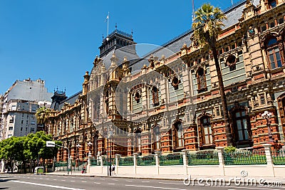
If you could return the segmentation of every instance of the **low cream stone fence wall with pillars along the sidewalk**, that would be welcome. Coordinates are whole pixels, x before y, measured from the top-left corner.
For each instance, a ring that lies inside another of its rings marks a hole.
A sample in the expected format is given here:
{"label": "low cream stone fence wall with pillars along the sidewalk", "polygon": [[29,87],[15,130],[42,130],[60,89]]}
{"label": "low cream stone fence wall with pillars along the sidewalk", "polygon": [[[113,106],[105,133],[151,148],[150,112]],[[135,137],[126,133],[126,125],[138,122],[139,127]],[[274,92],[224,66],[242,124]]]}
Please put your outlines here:
{"label": "low cream stone fence wall with pillars along the sidewalk", "polygon": [[[180,164],[162,165],[161,152],[155,152],[155,164],[139,166],[138,154],[133,155],[133,162],[128,166],[120,166],[120,155],[115,155],[115,174],[169,174],[169,175],[202,175],[202,176],[241,176],[241,173],[247,176],[272,176],[285,177],[285,165],[274,164],[274,159],[271,153],[271,144],[264,144],[264,153],[261,155],[265,162],[252,164],[225,164],[227,161],[224,157],[224,147],[217,147],[218,163],[204,164],[204,165],[190,165],[190,159],[187,157],[187,150],[182,151],[182,161]],[[256,154],[255,156],[258,156]],[[283,156],[282,156],[283,157]],[[108,174],[108,166],[103,164],[103,157],[98,157],[97,164],[92,165],[90,159],[88,160],[88,173],[90,174]],[[285,160],[285,159],[284,159]]]}

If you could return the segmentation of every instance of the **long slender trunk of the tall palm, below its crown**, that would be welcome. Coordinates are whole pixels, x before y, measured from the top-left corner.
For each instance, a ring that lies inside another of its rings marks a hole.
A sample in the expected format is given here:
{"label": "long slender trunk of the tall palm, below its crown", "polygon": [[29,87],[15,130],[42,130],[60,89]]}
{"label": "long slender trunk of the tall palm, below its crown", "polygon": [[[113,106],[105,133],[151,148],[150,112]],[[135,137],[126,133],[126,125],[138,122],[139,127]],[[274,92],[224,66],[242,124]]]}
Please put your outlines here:
{"label": "long slender trunk of the tall palm, below its crown", "polygon": [[211,47],[213,57],[214,57],[214,65],[216,66],[217,76],[219,81],[219,93],[221,94],[222,99],[222,110],[224,112],[224,126],[226,129],[226,136],[227,136],[227,146],[232,146],[232,130],[229,125],[229,112],[227,110],[227,97],[224,93],[224,82],[222,79],[222,72],[221,68],[219,67],[219,59],[217,55],[217,49],[215,46]]}

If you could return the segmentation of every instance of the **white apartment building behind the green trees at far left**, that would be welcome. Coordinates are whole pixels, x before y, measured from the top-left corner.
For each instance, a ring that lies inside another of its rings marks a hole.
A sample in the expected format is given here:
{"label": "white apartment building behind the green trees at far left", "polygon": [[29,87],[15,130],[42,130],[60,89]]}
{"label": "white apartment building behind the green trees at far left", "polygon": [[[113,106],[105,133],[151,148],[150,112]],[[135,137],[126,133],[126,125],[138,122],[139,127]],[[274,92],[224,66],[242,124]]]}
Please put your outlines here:
{"label": "white apartment building behind the green trees at far left", "polygon": [[36,110],[51,106],[52,93],[44,86],[44,80],[16,80],[3,98],[0,140],[12,136],[25,136],[37,131]]}

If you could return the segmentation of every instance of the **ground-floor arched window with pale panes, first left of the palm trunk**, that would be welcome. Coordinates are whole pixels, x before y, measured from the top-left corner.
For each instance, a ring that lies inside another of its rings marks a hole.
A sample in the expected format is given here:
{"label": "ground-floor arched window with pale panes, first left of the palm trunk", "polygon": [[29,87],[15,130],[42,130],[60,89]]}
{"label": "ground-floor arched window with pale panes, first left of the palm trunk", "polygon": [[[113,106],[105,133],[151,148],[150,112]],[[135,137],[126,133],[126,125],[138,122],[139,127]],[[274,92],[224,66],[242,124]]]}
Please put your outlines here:
{"label": "ground-floor arched window with pale panes, first left of the palm trunk", "polygon": [[213,133],[211,127],[211,118],[209,116],[204,116],[200,118],[201,133],[202,133],[202,144],[212,144]]}

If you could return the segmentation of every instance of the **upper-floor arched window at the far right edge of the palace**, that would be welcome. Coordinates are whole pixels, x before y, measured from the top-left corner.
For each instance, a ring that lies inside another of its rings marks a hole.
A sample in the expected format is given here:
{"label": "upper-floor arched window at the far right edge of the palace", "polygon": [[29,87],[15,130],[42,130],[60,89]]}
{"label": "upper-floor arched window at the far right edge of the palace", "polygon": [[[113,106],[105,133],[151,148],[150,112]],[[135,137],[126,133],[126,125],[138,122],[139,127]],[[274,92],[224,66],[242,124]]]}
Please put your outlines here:
{"label": "upper-floor arched window at the far right edge of the palace", "polygon": [[271,69],[280,68],[282,66],[281,56],[278,47],[277,39],[270,38],[266,43],[266,52],[269,61],[269,66]]}

